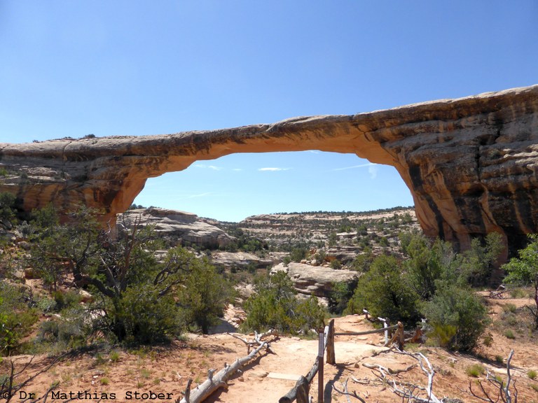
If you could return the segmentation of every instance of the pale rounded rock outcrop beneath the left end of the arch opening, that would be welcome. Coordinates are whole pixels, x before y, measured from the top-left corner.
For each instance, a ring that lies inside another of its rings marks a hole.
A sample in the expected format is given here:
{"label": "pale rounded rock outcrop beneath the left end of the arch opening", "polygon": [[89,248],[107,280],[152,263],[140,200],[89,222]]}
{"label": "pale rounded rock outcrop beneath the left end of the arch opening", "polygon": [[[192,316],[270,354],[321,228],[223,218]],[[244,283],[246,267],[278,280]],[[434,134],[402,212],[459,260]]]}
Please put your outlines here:
{"label": "pale rounded rock outcrop beneath the left end of the arch opening", "polygon": [[202,248],[216,249],[228,246],[235,238],[222,229],[209,225],[198,215],[185,211],[165,208],[137,208],[124,214],[126,222],[139,221],[140,225],[152,225],[160,239],[169,246],[196,245]]}

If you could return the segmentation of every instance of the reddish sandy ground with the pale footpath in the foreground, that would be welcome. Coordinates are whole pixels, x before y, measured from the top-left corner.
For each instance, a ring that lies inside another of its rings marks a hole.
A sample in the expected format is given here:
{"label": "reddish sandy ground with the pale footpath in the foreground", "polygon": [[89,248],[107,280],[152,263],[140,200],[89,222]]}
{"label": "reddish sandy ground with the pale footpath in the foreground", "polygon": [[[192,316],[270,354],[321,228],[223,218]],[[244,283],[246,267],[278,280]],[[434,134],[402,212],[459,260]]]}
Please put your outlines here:
{"label": "reddish sandy ground with the pale footpath in the foreground", "polygon": [[[502,305],[511,303],[516,306],[530,304],[530,299],[501,299],[489,300],[492,318],[502,314]],[[346,316],[336,319],[336,331],[370,330],[371,324],[362,316]],[[248,336],[247,336],[248,338]],[[536,339],[527,336],[518,336],[516,339],[507,339],[502,334],[492,332],[493,344],[490,348],[481,348],[482,365],[499,376],[506,376],[505,365],[495,361],[495,357],[508,355],[510,349],[516,351],[513,361],[513,376],[519,391],[518,402],[538,403],[538,381],[528,378],[530,369],[538,371],[538,346]],[[332,386],[341,389],[342,383],[348,380],[350,391],[357,391],[366,402],[389,403],[401,402],[386,384],[377,381],[371,369],[364,367],[364,363],[379,364],[390,369],[405,369],[416,361],[408,356],[398,355],[394,352],[380,353],[387,348],[382,346],[382,335],[368,336],[339,336],[336,337],[337,365],[324,367],[324,402],[347,402],[345,396],[340,395]],[[252,361],[241,374],[235,375],[228,381],[227,388],[221,388],[206,402],[224,403],[275,403],[285,395],[296,383],[298,376],[308,373],[317,357],[317,339],[299,339],[298,337],[282,337],[272,343],[275,354],[264,353]],[[462,402],[481,402],[471,397],[469,383],[476,388],[476,378],[465,373],[467,367],[479,362],[476,356],[450,353],[441,348],[425,346],[408,346],[410,351],[424,353],[432,362],[436,371],[434,377],[434,393],[437,397],[451,397]],[[171,346],[139,349],[137,351],[118,350],[118,358],[109,353],[81,353],[69,356],[56,365],[36,376],[32,382],[25,386],[24,393],[43,394],[51,385],[58,383],[54,397],[49,395],[48,402],[62,402],[69,397],[69,393],[84,393],[90,395],[83,397],[84,402],[175,402],[182,397],[186,382],[193,379],[193,387],[202,383],[207,377],[208,369],[221,369],[225,363],[230,364],[236,358],[247,355],[247,348],[240,340],[228,334],[214,334],[211,336],[190,335],[187,341],[175,341]],[[113,358],[111,360],[111,358]],[[13,358],[15,365],[22,368],[29,356]],[[8,370],[8,361],[1,363],[1,372]],[[37,356],[29,367],[19,376],[19,381],[27,379],[37,371],[46,368],[51,358]],[[354,379],[360,381],[357,383]],[[415,367],[408,372],[395,377],[399,381],[409,381],[425,386],[427,377]],[[485,375],[479,379],[484,380]],[[155,396],[153,399],[153,393]],[[318,401],[317,378],[310,386],[310,395],[313,401]],[[66,395],[61,395],[65,393]],[[105,395],[101,395],[104,393]],[[136,395],[138,393],[138,395]],[[148,395],[144,395],[144,393]],[[112,394],[113,398],[112,398]],[[21,402],[21,397],[15,396],[11,402]],[[144,399],[144,397],[146,397]],[[358,400],[351,398],[352,401]],[[77,401],[77,400],[74,400]],[[500,401],[500,400],[499,400]]]}

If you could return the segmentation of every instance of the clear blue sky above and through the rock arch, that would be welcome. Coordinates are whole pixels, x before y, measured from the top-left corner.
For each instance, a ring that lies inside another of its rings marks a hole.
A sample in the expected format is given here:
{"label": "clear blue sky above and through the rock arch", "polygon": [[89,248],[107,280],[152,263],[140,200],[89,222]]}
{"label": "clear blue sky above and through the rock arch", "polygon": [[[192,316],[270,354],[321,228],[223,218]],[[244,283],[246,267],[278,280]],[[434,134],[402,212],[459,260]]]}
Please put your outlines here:
{"label": "clear blue sky above and through the rock arch", "polygon": [[[0,141],[169,134],[538,83],[538,2],[0,1]],[[137,204],[221,220],[413,203],[391,167],[229,155]]]}

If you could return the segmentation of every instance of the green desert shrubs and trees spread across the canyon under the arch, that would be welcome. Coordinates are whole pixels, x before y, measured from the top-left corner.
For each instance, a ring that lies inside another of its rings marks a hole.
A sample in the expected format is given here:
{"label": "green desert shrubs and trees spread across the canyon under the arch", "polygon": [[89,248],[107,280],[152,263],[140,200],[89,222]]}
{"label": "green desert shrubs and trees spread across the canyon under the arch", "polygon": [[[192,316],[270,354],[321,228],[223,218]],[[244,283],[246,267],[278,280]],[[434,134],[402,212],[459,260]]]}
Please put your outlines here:
{"label": "green desert shrubs and trees spread across the canyon under the arch", "polygon": [[[58,357],[89,348],[113,365],[131,349],[151,351],[183,343],[189,332],[208,333],[230,303],[244,310],[241,332],[275,329],[308,339],[330,316],[368,309],[410,330],[420,327],[427,346],[498,365],[504,365],[506,353],[488,355],[484,348],[494,348],[499,339],[534,343],[536,337],[536,236],[499,268],[498,234],[475,239],[469,250],[457,252],[450,243],[427,239],[411,212],[401,208],[369,215],[282,213],[221,224],[234,239],[221,251],[357,272],[353,281],[332,284],[322,301],[298,297],[285,271],[270,274],[252,264],[217,269],[211,259],[219,250],[167,246],[151,225],[133,216],[118,218],[111,228],[99,225],[90,209],[79,208],[60,220],[47,206],[21,220],[14,205],[13,197],[0,195],[4,357]],[[483,290],[499,281],[506,287],[498,295],[531,296],[534,305],[503,304],[492,318],[485,299],[490,294]],[[250,295],[242,295],[244,283],[253,285]],[[481,379],[480,365],[462,372]],[[527,371],[531,381],[535,371]],[[106,372],[99,377],[101,386],[111,382]]]}

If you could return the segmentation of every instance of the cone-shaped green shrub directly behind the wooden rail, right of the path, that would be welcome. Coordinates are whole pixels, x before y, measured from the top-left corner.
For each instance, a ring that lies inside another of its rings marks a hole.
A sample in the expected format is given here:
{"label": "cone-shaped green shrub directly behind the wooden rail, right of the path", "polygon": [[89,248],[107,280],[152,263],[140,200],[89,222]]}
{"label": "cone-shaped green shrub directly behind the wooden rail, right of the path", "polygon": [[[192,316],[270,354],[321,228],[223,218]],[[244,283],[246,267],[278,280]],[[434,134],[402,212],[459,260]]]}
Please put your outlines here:
{"label": "cone-shaped green shrub directly behind the wooden rail, right of the path", "polygon": [[362,313],[364,308],[373,316],[400,320],[410,327],[420,320],[417,297],[402,281],[400,265],[393,256],[376,257],[370,270],[359,278],[346,312]]}

